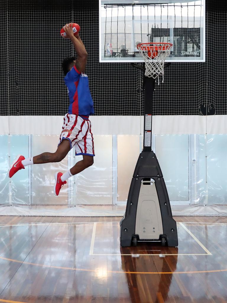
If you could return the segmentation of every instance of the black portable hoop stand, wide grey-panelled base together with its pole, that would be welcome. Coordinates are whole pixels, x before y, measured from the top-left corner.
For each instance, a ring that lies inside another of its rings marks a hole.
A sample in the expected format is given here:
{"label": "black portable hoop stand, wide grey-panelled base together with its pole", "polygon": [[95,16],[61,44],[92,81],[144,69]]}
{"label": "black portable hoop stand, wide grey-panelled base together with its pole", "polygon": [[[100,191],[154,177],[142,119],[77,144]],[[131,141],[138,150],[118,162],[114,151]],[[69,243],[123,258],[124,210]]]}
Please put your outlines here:
{"label": "black portable hoop stand, wide grey-panelled base together with its pole", "polygon": [[141,152],[130,185],[126,211],[120,221],[120,245],[154,242],[177,246],[176,221],[156,155],[151,150],[155,80],[144,77],[144,129]]}

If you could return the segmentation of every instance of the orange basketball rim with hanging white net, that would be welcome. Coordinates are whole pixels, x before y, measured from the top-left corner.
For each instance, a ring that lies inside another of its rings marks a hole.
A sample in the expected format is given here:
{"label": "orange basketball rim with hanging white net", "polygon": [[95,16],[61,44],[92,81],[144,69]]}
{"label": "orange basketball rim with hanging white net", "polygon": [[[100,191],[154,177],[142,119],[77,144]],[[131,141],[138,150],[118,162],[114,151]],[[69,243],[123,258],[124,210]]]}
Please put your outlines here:
{"label": "orange basketball rim with hanging white net", "polygon": [[137,44],[137,49],[143,56],[145,61],[145,76],[149,78],[158,77],[162,75],[162,83],[164,82],[164,63],[166,57],[170,55],[170,49],[173,46],[172,43],[165,42],[148,42]]}

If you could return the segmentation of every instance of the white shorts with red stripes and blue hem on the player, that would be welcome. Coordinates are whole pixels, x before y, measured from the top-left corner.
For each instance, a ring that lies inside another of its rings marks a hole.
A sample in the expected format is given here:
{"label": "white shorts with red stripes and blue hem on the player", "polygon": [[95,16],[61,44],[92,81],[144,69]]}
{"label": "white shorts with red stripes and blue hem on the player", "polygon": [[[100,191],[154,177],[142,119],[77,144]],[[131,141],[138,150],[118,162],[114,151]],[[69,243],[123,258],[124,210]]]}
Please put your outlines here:
{"label": "white shorts with red stripes and blue hem on the player", "polygon": [[90,120],[84,120],[77,115],[66,114],[58,145],[64,139],[69,140],[70,149],[74,147],[76,155],[95,155]]}

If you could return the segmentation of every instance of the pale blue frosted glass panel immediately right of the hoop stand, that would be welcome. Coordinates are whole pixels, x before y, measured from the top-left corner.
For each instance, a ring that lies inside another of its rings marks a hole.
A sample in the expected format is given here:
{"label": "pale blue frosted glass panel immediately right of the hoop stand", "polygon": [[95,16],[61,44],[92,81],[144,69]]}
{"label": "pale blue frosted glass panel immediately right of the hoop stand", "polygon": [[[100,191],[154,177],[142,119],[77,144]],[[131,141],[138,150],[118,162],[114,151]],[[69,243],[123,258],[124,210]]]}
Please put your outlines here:
{"label": "pale blue frosted glass panel immediately right of the hoop stand", "polygon": [[155,135],[158,158],[170,201],[189,201],[189,135]]}

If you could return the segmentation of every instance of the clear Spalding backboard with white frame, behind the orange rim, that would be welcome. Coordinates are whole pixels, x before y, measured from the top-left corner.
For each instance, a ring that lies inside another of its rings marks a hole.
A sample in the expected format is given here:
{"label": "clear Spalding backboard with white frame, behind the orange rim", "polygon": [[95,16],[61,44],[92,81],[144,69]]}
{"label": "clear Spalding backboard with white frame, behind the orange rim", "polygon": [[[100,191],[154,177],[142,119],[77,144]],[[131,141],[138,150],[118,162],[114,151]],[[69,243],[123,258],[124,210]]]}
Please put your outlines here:
{"label": "clear Spalding backboard with white frame, behind the orange rim", "polygon": [[99,0],[100,62],[144,62],[138,43],[173,44],[169,62],[205,62],[205,0]]}

